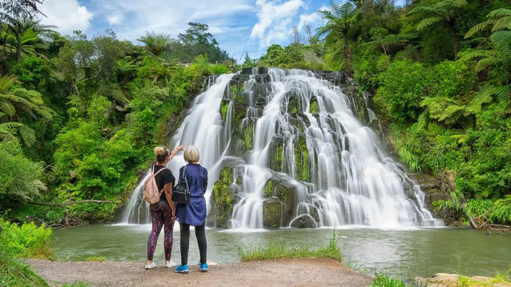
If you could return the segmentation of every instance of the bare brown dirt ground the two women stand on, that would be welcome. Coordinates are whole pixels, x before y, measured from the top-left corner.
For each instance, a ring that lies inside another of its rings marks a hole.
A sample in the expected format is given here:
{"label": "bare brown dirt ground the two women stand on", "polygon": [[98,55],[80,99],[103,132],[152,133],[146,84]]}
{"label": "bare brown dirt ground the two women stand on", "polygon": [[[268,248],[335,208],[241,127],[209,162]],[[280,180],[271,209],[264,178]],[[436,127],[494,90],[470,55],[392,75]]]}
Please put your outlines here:
{"label": "bare brown dirt ground the two women stand on", "polygon": [[372,278],[331,259],[279,259],[260,262],[210,265],[200,273],[191,266],[189,274],[166,269],[161,262],[145,270],[143,262],[53,262],[28,260],[33,270],[50,285],[82,280],[95,286],[353,286],[366,287]]}

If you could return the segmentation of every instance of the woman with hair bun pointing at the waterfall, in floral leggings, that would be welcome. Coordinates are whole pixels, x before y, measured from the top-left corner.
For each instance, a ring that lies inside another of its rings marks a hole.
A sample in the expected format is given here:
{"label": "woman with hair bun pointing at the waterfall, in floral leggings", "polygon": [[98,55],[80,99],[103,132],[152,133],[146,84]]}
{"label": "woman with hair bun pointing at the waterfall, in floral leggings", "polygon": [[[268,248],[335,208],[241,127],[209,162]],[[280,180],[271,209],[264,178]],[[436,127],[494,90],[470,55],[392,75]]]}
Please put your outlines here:
{"label": "woman with hair bun pointing at the waterfall, in floral leggings", "polygon": [[172,252],[173,242],[173,229],[176,215],[176,207],[172,202],[172,186],[175,185],[176,179],[172,172],[167,168],[167,163],[174,158],[177,152],[183,150],[184,146],[179,146],[172,152],[167,147],[156,147],[154,148],[154,154],[156,155],[156,163],[151,168],[151,173],[155,174],[154,179],[158,190],[164,190],[161,193],[160,200],[157,203],[149,205],[149,211],[151,213],[151,233],[147,240],[147,263],[145,269],[153,269],[156,264],[153,262],[154,249],[156,248],[156,242],[158,241],[158,235],[161,232],[161,228],[165,225],[165,267],[172,268],[176,266],[173,261],[170,260]]}

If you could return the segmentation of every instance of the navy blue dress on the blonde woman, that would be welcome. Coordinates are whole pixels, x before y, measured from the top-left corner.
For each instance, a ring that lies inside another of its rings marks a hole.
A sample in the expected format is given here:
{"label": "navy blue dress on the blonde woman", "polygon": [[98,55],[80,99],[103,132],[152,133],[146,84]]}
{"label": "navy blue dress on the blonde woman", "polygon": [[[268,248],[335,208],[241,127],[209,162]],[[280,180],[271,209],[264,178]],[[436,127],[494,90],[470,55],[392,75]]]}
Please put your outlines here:
{"label": "navy blue dress on the blonde woman", "polygon": [[[183,176],[184,166],[179,170],[179,178]],[[187,164],[187,180],[190,188],[190,203],[176,204],[176,220],[193,226],[201,226],[206,221],[206,200],[204,193],[207,188],[207,170],[199,164]]]}

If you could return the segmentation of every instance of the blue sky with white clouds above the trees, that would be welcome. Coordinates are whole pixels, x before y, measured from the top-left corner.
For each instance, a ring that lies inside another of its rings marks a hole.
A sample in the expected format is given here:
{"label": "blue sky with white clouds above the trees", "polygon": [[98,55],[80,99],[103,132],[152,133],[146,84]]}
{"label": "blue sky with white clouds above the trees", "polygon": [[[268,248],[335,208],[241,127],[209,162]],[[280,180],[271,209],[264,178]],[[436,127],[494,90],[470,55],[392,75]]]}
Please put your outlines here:
{"label": "blue sky with white clouds above the trees", "polygon": [[[345,0],[338,0],[343,2]],[[89,37],[113,29],[121,39],[137,42],[146,31],[177,38],[188,22],[202,22],[220,47],[234,56],[248,51],[259,58],[272,43],[288,44],[293,25],[320,25],[315,11],[329,0],[44,0],[42,21],[62,34],[82,30]],[[398,0],[401,4],[403,0]]]}

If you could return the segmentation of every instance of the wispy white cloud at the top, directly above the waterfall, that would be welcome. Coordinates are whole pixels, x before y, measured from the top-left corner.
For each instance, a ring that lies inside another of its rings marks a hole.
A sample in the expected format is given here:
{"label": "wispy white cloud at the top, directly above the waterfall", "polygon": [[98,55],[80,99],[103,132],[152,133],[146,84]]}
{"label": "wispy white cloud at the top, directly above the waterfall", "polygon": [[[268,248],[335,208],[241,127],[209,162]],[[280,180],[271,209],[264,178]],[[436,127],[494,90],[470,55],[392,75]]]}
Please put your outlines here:
{"label": "wispy white cloud at the top, directly above the waterfall", "polygon": [[296,15],[300,7],[306,6],[303,0],[288,0],[282,4],[278,0],[257,0],[255,4],[261,8],[257,13],[258,22],[252,28],[250,38],[261,39],[261,46],[286,39],[292,17]]}

